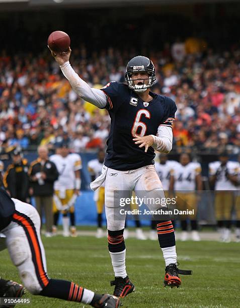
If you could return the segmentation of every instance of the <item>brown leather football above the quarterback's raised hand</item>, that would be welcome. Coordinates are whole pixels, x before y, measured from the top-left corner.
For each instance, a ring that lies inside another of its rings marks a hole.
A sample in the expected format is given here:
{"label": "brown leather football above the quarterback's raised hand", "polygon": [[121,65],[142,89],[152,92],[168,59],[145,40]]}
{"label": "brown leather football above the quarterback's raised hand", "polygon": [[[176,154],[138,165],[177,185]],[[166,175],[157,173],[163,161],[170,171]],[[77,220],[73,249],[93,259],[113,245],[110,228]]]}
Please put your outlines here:
{"label": "brown leather football above the quarterback's raised hand", "polygon": [[70,46],[70,37],[63,31],[54,31],[49,35],[47,44],[53,51],[66,51]]}

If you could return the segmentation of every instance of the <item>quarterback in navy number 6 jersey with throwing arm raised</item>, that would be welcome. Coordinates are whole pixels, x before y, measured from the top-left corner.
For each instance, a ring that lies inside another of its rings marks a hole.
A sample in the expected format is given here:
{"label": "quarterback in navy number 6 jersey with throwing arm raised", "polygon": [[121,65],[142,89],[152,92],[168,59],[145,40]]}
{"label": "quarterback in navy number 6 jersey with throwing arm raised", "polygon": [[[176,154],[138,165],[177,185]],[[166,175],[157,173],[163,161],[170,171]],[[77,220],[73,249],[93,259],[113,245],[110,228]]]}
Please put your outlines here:
{"label": "quarterback in navy number 6 jersey with throwing arm raised", "polygon": [[[154,168],[154,150],[168,153],[172,149],[172,124],[177,107],[169,97],[150,92],[156,76],[154,65],[147,57],[136,56],[128,62],[127,84],[111,82],[99,90],[91,88],[75,73],[69,63],[70,53],[70,47],[66,52],[52,51],[72,89],[84,100],[107,109],[111,118],[104,167],[91,188],[96,190],[105,181],[108,248],[115,273],[111,285],[115,286],[116,296],[125,297],[135,287],[126,272],[123,237],[126,214],[121,212],[120,200],[131,198],[132,191],[148,200],[153,199],[152,195],[159,200],[164,198],[163,186]],[[146,205],[151,210],[162,207],[155,202]],[[172,222],[169,217],[156,216],[155,219],[166,262],[164,285],[179,286]]]}

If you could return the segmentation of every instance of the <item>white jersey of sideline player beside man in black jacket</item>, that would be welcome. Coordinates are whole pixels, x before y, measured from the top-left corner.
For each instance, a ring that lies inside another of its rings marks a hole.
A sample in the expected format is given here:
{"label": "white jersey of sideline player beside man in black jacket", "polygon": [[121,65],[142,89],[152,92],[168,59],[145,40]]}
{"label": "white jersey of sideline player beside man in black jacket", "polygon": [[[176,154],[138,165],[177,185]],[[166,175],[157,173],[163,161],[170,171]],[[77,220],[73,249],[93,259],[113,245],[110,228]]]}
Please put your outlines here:
{"label": "white jersey of sideline player beside man in black jacket", "polygon": [[59,173],[57,181],[54,182],[54,190],[74,189],[75,173],[74,171],[82,169],[81,157],[76,153],[70,153],[66,157],[59,154],[50,156]]}

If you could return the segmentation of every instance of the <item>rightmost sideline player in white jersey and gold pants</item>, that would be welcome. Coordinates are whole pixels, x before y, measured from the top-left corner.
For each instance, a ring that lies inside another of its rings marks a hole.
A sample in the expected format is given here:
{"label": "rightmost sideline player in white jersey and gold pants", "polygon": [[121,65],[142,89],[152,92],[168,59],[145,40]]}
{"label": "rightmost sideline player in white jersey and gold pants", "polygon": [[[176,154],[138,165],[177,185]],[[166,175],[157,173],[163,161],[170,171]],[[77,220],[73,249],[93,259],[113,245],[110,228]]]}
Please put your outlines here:
{"label": "rightmost sideline player in white jersey and gold pants", "polygon": [[215,216],[220,241],[230,242],[231,211],[234,192],[237,190],[239,164],[228,161],[226,151],[220,153],[219,161],[209,164],[209,181],[215,189]]}

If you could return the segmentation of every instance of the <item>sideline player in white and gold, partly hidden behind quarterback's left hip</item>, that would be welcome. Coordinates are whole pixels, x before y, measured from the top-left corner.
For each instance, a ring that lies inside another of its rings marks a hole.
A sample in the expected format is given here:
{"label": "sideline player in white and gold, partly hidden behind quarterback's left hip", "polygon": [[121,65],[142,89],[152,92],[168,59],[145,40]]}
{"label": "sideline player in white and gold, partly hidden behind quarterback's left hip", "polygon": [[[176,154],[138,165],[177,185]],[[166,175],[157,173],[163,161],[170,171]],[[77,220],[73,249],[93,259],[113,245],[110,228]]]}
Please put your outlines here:
{"label": "sideline player in white and gold, partly hidden behind quarterback's left hip", "polygon": [[[95,160],[91,160],[88,162],[88,170],[92,177],[92,181],[97,179],[98,176],[102,173],[103,163],[105,158],[105,152],[103,149],[98,151],[98,158]],[[102,229],[102,214],[103,214],[103,207],[104,207],[104,183],[94,192],[94,201],[96,202],[97,206],[97,213],[98,213],[98,229],[96,238],[100,239],[104,237],[104,232]]]}

